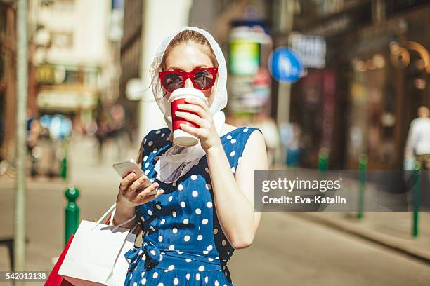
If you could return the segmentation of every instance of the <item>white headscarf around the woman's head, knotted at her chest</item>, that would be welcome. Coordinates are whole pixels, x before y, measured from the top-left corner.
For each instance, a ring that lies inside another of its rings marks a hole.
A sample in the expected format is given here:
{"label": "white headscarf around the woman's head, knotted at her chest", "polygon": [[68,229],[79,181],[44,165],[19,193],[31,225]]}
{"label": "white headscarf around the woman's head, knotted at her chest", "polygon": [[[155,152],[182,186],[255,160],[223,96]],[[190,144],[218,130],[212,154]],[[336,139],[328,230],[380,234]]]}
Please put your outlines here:
{"label": "white headscarf around the woman's head, knotted at her chest", "polygon": [[[164,114],[164,121],[171,130],[171,107],[168,102],[168,98],[164,97],[166,93],[162,88],[161,82],[159,81],[158,72],[160,71],[161,62],[163,59],[164,51],[174,37],[185,30],[193,30],[202,34],[209,44],[212,50],[214,50],[216,61],[218,62],[218,75],[216,79],[215,89],[213,91],[214,100],[209,107],[211,114],[213,115],[214,125],[216,132],[221,135],[221,129],[223,128],[226,118],[224,116],[223,109],[227,105],[227,67],[226,59],[224,58],[223,52],[216,43],[215,39],[211,34],[199,29],[197,27],[183,27],[178,29],[176,32],[167,36],[159,46],[157,53],[155,54],[154,60],[151,64],[150,74],[152,78],[152,93],[154,94],[155,100]],[[185,175],[193,165],[204,156],[205,152],[200,145],[200,142],[193,147],[179,147],[174,144],[169,150],[167,150],[155,164],[155,171],[157,172],[159,179],[165,183],[176,182],[180,177]]]}

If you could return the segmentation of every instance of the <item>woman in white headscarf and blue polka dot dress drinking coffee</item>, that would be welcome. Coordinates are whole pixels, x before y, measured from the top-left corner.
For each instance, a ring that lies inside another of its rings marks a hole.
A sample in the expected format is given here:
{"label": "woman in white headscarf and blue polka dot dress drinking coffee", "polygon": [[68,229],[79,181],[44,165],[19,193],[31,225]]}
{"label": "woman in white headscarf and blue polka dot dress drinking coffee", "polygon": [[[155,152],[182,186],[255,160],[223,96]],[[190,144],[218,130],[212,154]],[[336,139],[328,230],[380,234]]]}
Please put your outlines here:
{"label": "woman in white headscarf and blue polka dot dress drinking coffee", "polygon": [[[124,285],[233,285],[227,261],[235,249],[252,243],[261,218],[254,212],[252,178],[254,169],[267,168],[263,136],[256,128],[224,123],[226,62],[204,30],[184,27],[168,36],[151,71],[169,128],[143,139],[139,161],[145,175],[131,173],[120,184],[113,223],[136,212],[143,230],[142,247],[125,255]],[[178,106],[177,116],[199,126],[181,125],[200,139],[195,147],[172,143],[167,99],[182,87],[202,90],[208,101]]]}

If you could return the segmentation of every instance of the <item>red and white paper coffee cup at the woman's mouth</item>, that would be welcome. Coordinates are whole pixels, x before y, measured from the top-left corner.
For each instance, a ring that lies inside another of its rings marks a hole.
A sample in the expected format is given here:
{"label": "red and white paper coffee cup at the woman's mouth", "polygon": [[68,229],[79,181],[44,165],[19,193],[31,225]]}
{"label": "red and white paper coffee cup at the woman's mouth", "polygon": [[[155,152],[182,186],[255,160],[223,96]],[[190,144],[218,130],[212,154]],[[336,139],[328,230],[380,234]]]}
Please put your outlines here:
{"label": "red and white paper coffee cup at the woman's mouth", "polygon": [[[197,100],[202,100],[202,102],[207,102],[206,97],[201,90],[196,88],[178,88],[171,93],[169,97],[169,104],[171,107],[171,123],[173,132],[173,142],[174,144],[181,147],[191,147],[199,142],[199,139],[188,132],[181,129],[180,125],[182,123],[190,125],[195,128],[199,128],[198,125],[185,120],[182,117],[176,116],[176,111],[189,112],[190,114],[195,114],[191,111],[178,109],[178,104],[185,104],[186,98],[195,98]],[[196,114],[197,115],[197,114]]]}

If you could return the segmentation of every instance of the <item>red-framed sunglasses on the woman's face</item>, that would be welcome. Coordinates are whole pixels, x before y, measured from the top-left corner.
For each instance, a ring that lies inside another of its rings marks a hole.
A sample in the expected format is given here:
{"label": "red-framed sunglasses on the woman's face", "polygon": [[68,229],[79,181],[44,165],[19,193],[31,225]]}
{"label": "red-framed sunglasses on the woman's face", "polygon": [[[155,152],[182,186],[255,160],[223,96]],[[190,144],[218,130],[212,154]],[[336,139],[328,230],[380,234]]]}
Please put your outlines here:
{"label": "red-framed sunglasses on the woman's face", "polygon": [[183,88],[187,79],[191,80],[194,88],[208,90],[214,86],[217,72],[217,67],[198,67],[190,72],[181,70],[160,71],[158,76],[163,88],[171,93],[178,88]]}

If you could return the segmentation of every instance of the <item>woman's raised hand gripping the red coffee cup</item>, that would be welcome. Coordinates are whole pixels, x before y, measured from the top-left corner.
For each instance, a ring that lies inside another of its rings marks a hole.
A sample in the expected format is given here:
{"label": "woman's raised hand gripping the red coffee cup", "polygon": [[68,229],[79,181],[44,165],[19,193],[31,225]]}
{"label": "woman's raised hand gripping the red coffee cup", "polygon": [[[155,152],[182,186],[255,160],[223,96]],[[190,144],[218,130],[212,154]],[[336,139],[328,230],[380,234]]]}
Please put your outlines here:
{"label": "woman's raised hand gripping the red coffee cup", "polygon": [[[212,147],[222,146],[221,140],[219,139],[219,134],[218,132],[216,132],[211,111],[209,110],[207,103],[201,102],[200,100],[195,100],[193,98],[187,98],[185,102],[187,103],[178,104],[178,109],[181,109],[185,112],[176,111],[176,116],[184,118],[187,121],[193,122],[200,128],[195,128],[182,123],[180,125],[181,129],[199,138],[200,144],[202,144],[202,148],[205,152],[207,152]],[[191,114],[190,112],[193,112],[195,114]]]}

